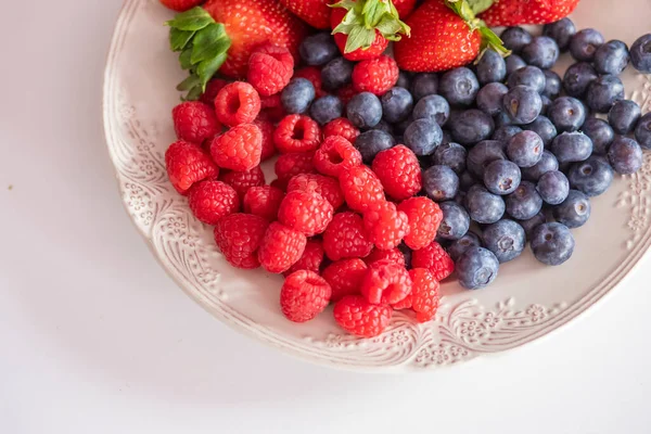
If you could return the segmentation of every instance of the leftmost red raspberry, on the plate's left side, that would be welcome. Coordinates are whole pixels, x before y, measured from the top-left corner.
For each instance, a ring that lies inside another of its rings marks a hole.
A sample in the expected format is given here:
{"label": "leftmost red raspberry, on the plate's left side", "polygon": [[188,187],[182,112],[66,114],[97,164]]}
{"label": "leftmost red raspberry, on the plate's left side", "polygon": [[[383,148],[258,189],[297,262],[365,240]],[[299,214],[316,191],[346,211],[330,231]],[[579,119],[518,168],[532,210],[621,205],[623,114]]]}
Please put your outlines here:
{"label": "leftmost red raspberry, on the plate's left side", "polygon": [[210,156],[196,144],[179,140],[165,152],[165,166],[169,182],[181,194],[186,194],[194,182],[217,178],[219,168]]}

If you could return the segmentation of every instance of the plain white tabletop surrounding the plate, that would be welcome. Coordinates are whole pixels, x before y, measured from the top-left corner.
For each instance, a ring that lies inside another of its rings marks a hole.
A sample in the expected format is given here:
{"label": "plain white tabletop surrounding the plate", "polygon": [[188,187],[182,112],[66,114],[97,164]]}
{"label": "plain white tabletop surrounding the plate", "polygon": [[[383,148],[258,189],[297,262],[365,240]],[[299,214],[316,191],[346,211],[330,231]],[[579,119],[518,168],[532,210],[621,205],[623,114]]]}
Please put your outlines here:
{"label": "plain white tabletop surrounding the plate", "polygon": [[408,376],[311,366],[205,314],[118,197],[101,85],[119,5],[3,3],[0,433],[651,432],[649,257],[539,342]]}

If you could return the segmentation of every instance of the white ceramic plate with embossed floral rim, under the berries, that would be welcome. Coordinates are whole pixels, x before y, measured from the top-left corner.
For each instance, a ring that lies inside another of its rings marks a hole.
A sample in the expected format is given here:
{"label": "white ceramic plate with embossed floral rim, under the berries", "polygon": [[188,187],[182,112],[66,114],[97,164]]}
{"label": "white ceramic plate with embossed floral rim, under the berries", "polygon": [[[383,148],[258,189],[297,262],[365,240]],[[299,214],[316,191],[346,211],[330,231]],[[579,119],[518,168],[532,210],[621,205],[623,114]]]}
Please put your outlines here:
{"label": "white ceramic plate with embossed floral rim, under the berries", "polygon": [[[578,28],[595,27],[607,39],[630,44],[649,31],[651,2],[618,3],[584,0],[573,18]],[[591,218],[574,231],[576,250],[564,266],[542,266],[527,247],[500,268],[488,289],[444,284],[435,321],[418,324],[396,314],[390,329],[371,340],[339,329],[330,309],[311,322],[292,323],[279,309],[281,278],[231,268],[212,229],[192,217],[167,181],[163,156],[175,140],[170,110],[179,101],[175,85],[183,78],[167,48],[163,23],[170,15],[158,0],[125,2],[105,73],[106,142],[125,206],[154,255],[188,295],[240,331],[307,360],[349,369],[414,371],[456,363],[558,329],[620,283],[651,244],[647,154],[639,174],[617,177],[592,201]],[[629,67],[623,79],[627,97],[650,111],[651,76]]]}

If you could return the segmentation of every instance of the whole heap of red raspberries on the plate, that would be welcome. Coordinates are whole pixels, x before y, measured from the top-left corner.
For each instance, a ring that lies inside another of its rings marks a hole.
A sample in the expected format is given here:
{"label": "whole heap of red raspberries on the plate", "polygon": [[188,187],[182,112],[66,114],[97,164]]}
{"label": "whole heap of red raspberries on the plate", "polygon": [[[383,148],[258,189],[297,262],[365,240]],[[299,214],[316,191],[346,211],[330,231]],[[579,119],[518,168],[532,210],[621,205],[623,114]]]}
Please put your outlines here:
{"label": "whole heap of red raspberries on the plate", "polygon": [[[215,78],[200,101],[176,106],[170,182],[215,227],[233,267],[284,276],[280,309],[289,320],[308,321],[333,304],[335,321],[365,337],[382,333],[394,310],[432,320],[439,281],[454,271],[434,241],[443,213],[418,195],[421,168],[410,149],[383,150],[369,167],[354,145],[360,131],[342,117],[346,99],[396,85],[395,62],[358,63],[340,105],[311,117],[308,107],[288,113],[295,104],[282,101],[296,77],[328,99],[318,67],[295,69],[285,49],[266,46],[251,56],[246,81]],[[276,154],[267,183],[260,163]]]}

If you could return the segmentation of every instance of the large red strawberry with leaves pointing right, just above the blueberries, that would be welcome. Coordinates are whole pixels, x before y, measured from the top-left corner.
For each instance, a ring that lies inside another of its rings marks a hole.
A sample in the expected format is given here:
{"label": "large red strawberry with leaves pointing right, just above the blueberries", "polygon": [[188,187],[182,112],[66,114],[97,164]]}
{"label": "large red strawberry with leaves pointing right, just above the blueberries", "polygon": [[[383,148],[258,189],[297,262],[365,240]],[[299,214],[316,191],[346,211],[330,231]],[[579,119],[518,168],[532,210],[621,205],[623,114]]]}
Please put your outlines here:
{"label": "large red strawberry with leaves pointing right, just above the blueberries", "polygon": [[501,53],[501,40],[475,18],[465,0],[430,0],[407,18],[411,37],[395,43],[400,69],[437,72],[472,62],[482,44]]}

